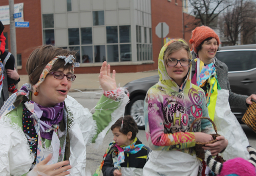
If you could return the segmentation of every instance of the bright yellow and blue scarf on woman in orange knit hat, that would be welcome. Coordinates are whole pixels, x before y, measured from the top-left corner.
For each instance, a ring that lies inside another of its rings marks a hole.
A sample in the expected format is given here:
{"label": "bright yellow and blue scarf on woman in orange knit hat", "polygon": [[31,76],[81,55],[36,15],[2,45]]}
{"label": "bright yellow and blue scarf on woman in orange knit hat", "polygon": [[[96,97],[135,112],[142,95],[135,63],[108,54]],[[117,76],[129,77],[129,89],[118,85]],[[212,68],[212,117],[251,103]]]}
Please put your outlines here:
{"label": "bright yellow and blue scarf on woman in orange knit hat", "polygon": [[204,66],[204,62],[199,58],[196,58],[194,61],[196,62],[196,73],[193,76],[192,83],[203,87],[209,116],[211,120],[214,120],[218,90],[221,90],[215,65],[211,62]]}

